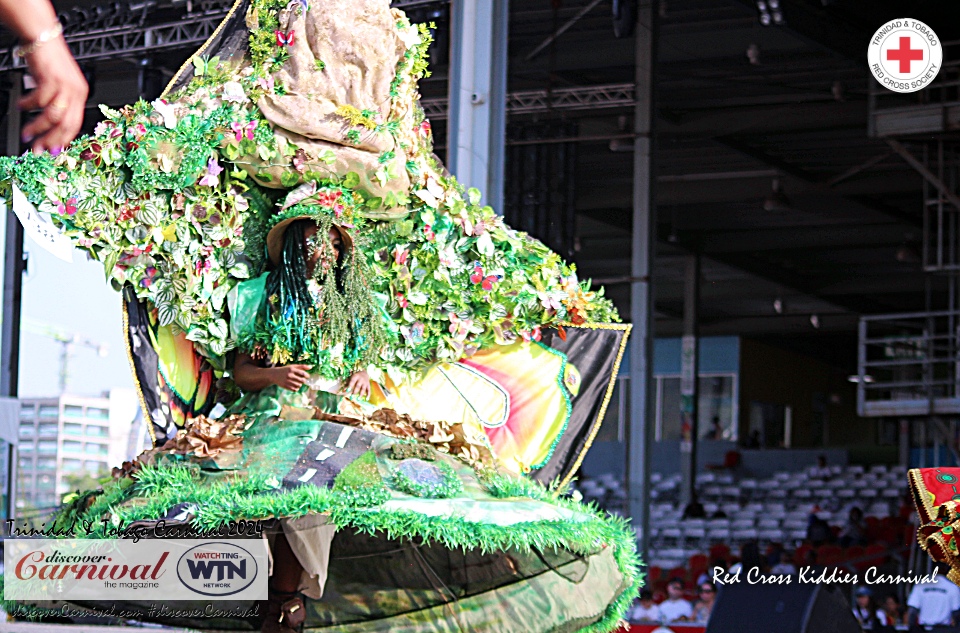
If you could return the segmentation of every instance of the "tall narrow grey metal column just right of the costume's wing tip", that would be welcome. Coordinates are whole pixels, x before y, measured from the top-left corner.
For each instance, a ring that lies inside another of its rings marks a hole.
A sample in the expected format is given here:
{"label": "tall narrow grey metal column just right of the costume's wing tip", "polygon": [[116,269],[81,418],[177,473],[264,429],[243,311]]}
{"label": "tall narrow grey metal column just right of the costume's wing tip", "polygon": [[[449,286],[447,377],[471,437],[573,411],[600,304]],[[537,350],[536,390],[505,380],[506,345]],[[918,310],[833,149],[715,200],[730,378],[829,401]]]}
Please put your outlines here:
{"label": "tall narrow grey metal column just right of the costume's wing tip", "polygon": [[656,9],[640,0],[637,12],[636,108],[633,150],[633,228],[630,266],[630,423],[627,427],[627,508],[649,559],[650,443],[653,438],[653,67]]}

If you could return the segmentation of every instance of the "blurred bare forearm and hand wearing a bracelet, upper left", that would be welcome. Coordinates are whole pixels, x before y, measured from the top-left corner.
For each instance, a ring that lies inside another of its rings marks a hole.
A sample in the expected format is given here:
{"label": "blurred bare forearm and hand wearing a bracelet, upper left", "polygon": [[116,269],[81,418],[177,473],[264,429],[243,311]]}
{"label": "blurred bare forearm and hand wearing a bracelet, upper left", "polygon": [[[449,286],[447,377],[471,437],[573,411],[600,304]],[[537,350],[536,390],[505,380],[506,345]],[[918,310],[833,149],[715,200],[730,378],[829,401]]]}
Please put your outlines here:
{"label": "blurred bare forearm and hand wearing a bracelet, upper left", "polygon": [[[0,22],[25,46],[57,26],[49,0],[0,0]],[[89,88],[62,36],[36,46],[26,56],[37,88],[20,100],[21,110],[42,110],[23,128],[23,139],[34,151],[54,150],[76,138],[83,125]]]}

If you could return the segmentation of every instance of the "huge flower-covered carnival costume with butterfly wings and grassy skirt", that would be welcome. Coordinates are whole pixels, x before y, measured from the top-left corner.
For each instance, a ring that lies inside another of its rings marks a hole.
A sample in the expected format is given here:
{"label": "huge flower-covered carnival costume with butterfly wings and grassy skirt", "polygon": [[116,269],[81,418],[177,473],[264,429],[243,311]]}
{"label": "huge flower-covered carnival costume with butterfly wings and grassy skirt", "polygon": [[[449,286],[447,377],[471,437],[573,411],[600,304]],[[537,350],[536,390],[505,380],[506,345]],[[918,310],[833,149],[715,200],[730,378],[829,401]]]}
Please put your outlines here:
{"label": "huge flower-covered carnival costume with butterfly wings and grassy skirt", "polygon": [[[385,0],[241,0],[162,98],[0,159],[123,290],[156,445],[59,521],[280,518],[308,631],[612,630],[634,533],[562,493],[629,326],[434,157],[430,41]],[[241,394],[238,353],[311,378]]]}

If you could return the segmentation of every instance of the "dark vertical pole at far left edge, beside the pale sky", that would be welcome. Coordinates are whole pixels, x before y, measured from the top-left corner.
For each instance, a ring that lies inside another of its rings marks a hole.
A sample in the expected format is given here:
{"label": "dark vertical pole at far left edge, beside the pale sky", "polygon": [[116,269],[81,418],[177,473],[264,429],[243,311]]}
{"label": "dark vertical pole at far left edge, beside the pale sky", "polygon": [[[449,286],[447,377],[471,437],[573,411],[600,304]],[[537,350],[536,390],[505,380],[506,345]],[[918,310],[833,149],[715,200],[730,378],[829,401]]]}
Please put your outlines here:
{"label": "dark vertical pole at far left edge, beside the pale sky", "polygon": [[[23,74],[10,73],[7,102],[7,147],[9,156],[20,154],[20,108]],[[7,209],[3,256],[3,319],[0,323],[0,396],[17,397],[20,370],[20,293],[23,288],[23,227],[12,209]],[[8,519],[17,507],[17,447],[10,444],[7,454]]]}

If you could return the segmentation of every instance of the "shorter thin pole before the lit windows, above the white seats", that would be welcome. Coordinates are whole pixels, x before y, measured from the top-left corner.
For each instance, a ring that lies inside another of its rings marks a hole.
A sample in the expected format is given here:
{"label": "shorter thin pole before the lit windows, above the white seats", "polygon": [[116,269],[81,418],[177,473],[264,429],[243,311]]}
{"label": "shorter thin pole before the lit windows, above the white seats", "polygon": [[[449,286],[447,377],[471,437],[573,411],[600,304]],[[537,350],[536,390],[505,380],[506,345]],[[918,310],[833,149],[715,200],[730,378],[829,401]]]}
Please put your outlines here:
{"label": "shorter thin pole before the lit windows, above the white seats", "polygon": [[687,255],[687,274],[683,295],[683,346],[680,359],[680,488],[684,507],[691,501],[697,485],[697,441],[700,399],[700,255]]}

